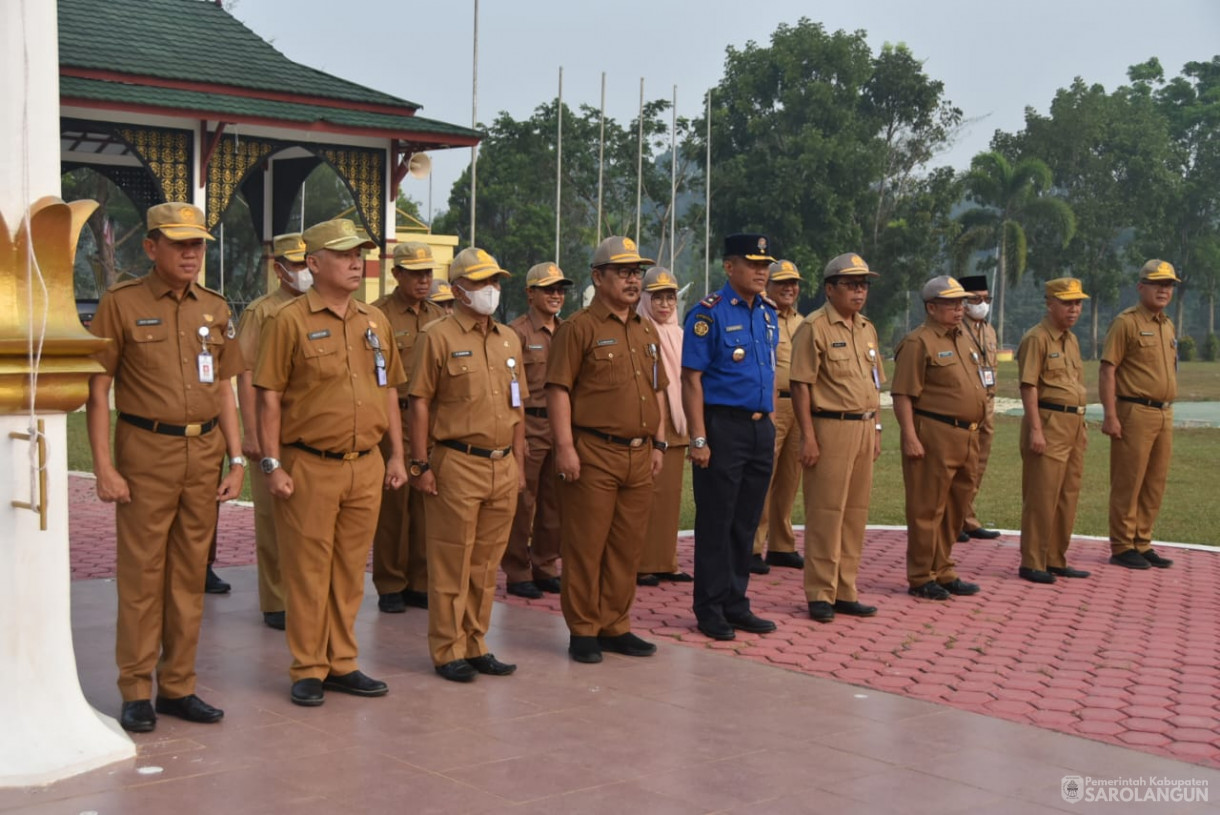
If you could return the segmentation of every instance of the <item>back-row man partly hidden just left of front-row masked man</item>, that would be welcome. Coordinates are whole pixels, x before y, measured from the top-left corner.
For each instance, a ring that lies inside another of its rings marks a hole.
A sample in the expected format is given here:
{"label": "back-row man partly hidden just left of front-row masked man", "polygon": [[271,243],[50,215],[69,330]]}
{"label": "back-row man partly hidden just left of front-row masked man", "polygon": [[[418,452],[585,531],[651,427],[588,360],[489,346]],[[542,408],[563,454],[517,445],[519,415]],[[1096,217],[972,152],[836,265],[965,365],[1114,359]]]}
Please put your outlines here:
{"label": "back-row man partly hidden just left of front-row masked man", "polygon": [[[423,327],[445,315],[445,310],[428,300],[432,292],[432,273],[437,264],[432,248],[426,243],[407,240],[394,246],[394,282],[398,288],[381,298],[375,306],[389,318],[394,329],[394,344],[403,360],[407,379],[415,344]],[[403,416],[403,438],[409,442],[406,383],[398,389],[398,408]],[[381,442],[382,455],[389,454],[389,438]],[[407,444],[411,459],[427,459],[428,451],[418,455]],[[403,614],[406,606],[428,608],[428,551],[427,532],[423,525],[423,495],[415,489],[400,489],[382,497],[373,534],[373,586],[377,588],[377,608],[386,614]]]}

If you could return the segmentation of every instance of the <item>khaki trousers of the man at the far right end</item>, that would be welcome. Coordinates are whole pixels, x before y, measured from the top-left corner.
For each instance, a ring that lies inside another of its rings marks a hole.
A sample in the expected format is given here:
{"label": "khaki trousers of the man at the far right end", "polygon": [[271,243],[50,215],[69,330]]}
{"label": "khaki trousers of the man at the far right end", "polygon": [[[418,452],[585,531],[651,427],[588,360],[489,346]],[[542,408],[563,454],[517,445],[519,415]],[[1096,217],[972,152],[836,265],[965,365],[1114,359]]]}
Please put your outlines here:
{"label": "khaki trousers of the man at the far right end", "polygon": [[1110,551],[1148,551],[1174,454],[1172,408],[1118,403],[1122,438],[1110,439]]}

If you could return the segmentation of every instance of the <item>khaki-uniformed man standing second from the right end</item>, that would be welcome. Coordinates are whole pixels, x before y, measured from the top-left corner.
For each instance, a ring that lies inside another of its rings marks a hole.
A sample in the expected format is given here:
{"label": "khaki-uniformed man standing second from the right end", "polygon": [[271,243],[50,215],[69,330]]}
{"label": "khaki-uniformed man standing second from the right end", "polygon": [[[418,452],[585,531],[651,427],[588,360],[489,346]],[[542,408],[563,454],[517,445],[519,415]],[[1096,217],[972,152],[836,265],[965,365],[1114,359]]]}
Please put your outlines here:
{"label": "khaki-uniformed man standing second from the right end", "polygon": [[1088,577],[1068,566],[1085,472],[1085,366],[1071,332],[1088,299],[1080,281],[1048,281],[1047,316],[1021,338],[1021,566],[1031,583]]}

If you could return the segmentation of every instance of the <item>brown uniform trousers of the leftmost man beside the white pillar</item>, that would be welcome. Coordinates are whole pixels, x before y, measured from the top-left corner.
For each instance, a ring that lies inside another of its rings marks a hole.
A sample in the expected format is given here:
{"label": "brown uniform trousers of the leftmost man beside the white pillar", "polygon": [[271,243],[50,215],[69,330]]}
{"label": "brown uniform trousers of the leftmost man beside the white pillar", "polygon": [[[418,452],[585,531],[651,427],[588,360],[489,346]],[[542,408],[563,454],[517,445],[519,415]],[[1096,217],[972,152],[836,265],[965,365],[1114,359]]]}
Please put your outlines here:
{"label": "brown uniform trousers of the leftmost man beside the white pillar", "polygon": [[115,465],[132,500],[115,505],[118,619],[115,661],[123,702],[195,692],[207,548],[224,437],[162,436],[120,421]]}

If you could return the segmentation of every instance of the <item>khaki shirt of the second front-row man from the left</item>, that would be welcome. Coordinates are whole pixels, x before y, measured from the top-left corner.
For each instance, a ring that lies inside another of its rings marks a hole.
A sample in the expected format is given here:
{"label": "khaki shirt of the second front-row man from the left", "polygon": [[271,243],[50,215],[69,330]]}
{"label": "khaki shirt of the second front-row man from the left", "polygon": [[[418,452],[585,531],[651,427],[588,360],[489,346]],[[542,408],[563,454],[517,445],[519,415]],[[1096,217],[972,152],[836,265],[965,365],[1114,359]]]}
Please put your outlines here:
{"label": "khaki shirt of the second front-row man from the left", "polygon": [[[368,332],[386,357],[377,382]],[[389,427],[386,387],[401,384],[403,364],[389,321],[378,309],[350,300],[340,317],[310,289],[262,326],[254,384],[283,394],[279,442],[320,450],[368,450]]]}

